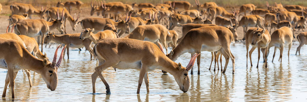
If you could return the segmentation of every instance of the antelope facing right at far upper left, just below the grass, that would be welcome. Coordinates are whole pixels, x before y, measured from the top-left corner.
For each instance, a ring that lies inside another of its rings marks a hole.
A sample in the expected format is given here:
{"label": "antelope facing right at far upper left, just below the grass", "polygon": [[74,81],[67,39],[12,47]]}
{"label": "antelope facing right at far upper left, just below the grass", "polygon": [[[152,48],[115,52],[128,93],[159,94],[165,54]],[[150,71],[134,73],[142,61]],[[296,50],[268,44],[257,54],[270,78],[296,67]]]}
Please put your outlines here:
{"label": "antelope facing right at far upper left, just below the grass", "polygon": [[24,3],[14,3],[10,6],[10,9],[12,11],[12,15],[13,14],[19,14],[19,13],[28,13],[30,19],[32,19],[32,14],[37,15],[38,17],[40,17],[41,19],[44,19],[44,13],[46,11],[46,7],[43,10],[43,7],[41,7],[41,10],[37,10],[35,9],[31,4],[24,4]]}

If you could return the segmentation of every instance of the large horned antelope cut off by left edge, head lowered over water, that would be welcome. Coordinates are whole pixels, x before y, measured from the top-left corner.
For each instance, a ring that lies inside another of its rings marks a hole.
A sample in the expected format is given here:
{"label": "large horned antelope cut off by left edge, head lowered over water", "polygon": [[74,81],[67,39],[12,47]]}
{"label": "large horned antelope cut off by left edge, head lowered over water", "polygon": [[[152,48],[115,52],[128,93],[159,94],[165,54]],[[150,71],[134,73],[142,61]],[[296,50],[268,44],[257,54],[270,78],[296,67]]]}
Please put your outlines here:
{"label": "large horned antelope cut off by left edge, head lowered over water", "polygon": [[41,77],[43,77],[45,83],[47,84],[47,88],[51,91],[56,89],[58,83],[57,70],[62,62],[64,49],[61,52],[60,59],[58,62],[56,62],[57,50],[60,46],[57,47],[51,63],[47,59],[37,59],[16,40],[0,38],[0,47],[2,49],[0,51],[0,68],[7,69],[2,97],[6,96],[6,89],[10,83],[12,98],[15,98],[14,79],[16,78],[18,71],[21,69],[32,70],[38,74],[41,74]]}

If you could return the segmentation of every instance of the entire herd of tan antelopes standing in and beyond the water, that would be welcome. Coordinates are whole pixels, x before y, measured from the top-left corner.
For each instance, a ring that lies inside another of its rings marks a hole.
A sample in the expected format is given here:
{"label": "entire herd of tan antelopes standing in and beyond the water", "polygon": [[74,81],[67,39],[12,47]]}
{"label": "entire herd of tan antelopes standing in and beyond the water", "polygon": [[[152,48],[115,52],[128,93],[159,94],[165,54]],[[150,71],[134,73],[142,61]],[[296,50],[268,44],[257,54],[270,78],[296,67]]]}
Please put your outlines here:
{"label": "entire herd of tan antelopes standing in and beyond the water", "polygon": [[[196,8],[191,9],[193,6],[186,1],[167,1],[156,5],[94,1],[91,2],[90,15],[96,13],[100,16],[101,13],[101,17],[85,17],[78,21],[80,7],[83,5],[80,1],[58,2],[56,7],[47,9],[45,6],[41,7],[41,10],[31,4],[13,3],[10,5],[12,15],[9,16],[6,33],[0,34],[0,67],[8,70],[2,97],[6,96],[6,89],[10,83],[14,98],[14,79],[21,69],[26,71],[30,86],[32,86],[31,70],[41,74],[47,88],[54,91],[58,83],[57,70],[66,51],[69,59],[70,47],[85,47],[91,55],[90,59],[99,61],[99,66],[95,67],[95,72],[91,75],[93,93],[96,92],[95,82],[99,77],[106,86],[107,94],[111,94],[110,87],[102,75],[102,71],[109,67],[115,71],[116,69],[140,70],[137,93],[140,92],[143,78],[149,93],[147,71],[155,69],[172,74],[179,88],[187,92],[190,86],[188,71],[191,70],[193,74],[196,58],[200,74],[201,51],[211,52],[211,64],[213,59],[218,64],[219,56],[221,64],[223,55],[226,60],[224,69],[221,65],[223,73],[231,59],[232,74],[235,74],[235,56],[231,53],[230,44],[238,41],[240,34],[244,36],[246,59],[249,56],[251,66],[251,54],[257,47],[258,63],[261,50],[267,67],[270,47],[274,47],[273,59],[276,49],[280,49],[279,60],[282,62],[283,48],[288,46],[289,59],[292,40],[295,38],[294,31],[295,29],[304,31],[306,25],[307,7],[299,5],[283,6],[281,3],[275,3],[274,6],[270,6],[266,2],[267,9],[258,9],[254,4],[245,4],[240,6],[239,10],[231,7],[231,12],[228,12],[215,2],[201,4],[195,0],[195,4]],[[78,9],[79,14],[75,13],[72,16],[72,7]],[[0,9],[2,10],[1,4]],[[41,19],[31,19],[32,15]],[[67,34],[67,20],[72,30],[76,30],[76,26],[80,24],[82,32]],[[212,24],[214,20],[215,24]],[[173,30],[176,26],[182,28],[181,37]],[[243,27],[243,32],[237,32],[236,29],[239,27]],[[275,30],[271,33],[272,28]],[[53,29],[65,34],[56,35],[50,32]],[[123,36],[124,33],[127,33],[126,36]],[[297,47],[300,54],[301,46],[307,44],[307,32],[298,34],[297,40],[300,43]],[[57,51],[60,46],[56,48],[52,62],[46,53],[42,53],[43,44],[50,41],[63,46],[58,61],[56,61]],[[91,46],[92,43],[95,46]],[[39,49],[40,44],[41,49]],[[252,48],[248,51],[250,44]],[[170,52],[169,45],[172,47]],[[169,54],[165,55],[167,52]],[[186,52],[191,54],[186,67],[174,62]],[[219,65],[217,66],[219,70]],[[216,71],[215,65],[214,71]]]}

